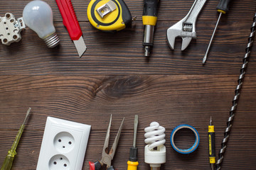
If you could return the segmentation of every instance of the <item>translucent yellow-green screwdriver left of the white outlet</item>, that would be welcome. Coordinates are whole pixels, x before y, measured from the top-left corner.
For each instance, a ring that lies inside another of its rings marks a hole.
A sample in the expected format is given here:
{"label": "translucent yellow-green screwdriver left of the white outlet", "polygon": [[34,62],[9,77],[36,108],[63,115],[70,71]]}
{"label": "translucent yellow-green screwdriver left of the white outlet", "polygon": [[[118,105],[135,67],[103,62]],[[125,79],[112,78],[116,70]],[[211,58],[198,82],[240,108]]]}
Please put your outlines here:
{"label": "translucent yellow-green screwdriver left of the white outlet", "polygon": [[26,119],[28,118],[30,111],[31,111],[31,108],[28,108],[28,111],[26,113],[26,118],[23,121],[21,128],[19,128],[19,130],[18,130],[18,134],[16,135],[14,144],[11,146],[11,149],[9,149],[8,154],[7,154],[6,158],[4,159],[4,164],[1,166],[1,170],[10,170],[11,169],[11,166],[14,162],[14,157],[17,154],[16,148],[18,146],[19,140],[21,139],[22,132],[25,128]]}

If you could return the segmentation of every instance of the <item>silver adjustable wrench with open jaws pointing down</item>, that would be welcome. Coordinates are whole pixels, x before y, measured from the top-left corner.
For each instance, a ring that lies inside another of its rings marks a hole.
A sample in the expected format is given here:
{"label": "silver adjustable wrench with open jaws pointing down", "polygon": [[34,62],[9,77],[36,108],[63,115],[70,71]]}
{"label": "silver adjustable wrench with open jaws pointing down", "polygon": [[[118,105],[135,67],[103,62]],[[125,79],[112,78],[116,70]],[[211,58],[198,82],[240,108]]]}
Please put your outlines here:
{"label": "silver adjustable wrench with open jaws pointing down", "polygon": [[185,50],[188,47],[192,38],[196,38],[196,18],[200,13],[203,5],[207,0],[194,1],[188,14],[178,23],[174,24],[167,30],[167,41],[171,50],[174,50],[174,42],[176,37],[182,38],[181,50]]}

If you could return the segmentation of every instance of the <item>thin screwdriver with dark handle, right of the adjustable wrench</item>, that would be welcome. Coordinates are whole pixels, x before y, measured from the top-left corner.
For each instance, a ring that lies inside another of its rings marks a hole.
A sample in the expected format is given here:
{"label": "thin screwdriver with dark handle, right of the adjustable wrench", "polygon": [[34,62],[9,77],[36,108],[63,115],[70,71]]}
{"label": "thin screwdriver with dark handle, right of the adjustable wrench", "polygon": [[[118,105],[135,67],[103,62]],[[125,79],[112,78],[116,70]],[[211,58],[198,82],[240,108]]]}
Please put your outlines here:
{"label": "thin screwdriver with dark handle, right of the adjustable wrench", "polygon": [[229,8],[229,3],[230,3],[231,0],[220,0],[218,6],[216,7],[217,11],[220,13],[219,17],[218,17],[218,21],[215,25],[215,28],[213,30],[213,35],[211,36],[210,38],[210,42],[209,42],[209,45],[208,45],[208,48],[206,50],[206,55],[203,57],[203,64],[206,63],[206,59],[207,59],[207,55],[208,55],[208,52],[210,50],[210,45],[213,41],[213,37],[215,35],[215,32],[217,30],[217,27],[218,27],[218,23],[220,22],[220,18],[222,16],[222,14],[225,14],[228,12],[228,8]]}

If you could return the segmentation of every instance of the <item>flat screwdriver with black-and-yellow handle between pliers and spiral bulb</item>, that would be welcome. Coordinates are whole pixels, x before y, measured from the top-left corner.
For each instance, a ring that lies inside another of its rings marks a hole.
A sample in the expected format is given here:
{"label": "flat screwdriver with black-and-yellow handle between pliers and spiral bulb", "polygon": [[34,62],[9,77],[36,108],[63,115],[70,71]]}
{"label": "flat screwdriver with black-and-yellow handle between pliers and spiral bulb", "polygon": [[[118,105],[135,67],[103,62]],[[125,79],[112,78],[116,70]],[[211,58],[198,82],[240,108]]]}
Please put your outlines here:
{"label": "flat screwdriver with black-and-yellow handle between pliers and spiral bulb", "polygon": [[128,167],[127,170],[137,170],[139,162],[137,161],[137,152],[138,149],[136,147],[136,137],[137,137],[137,129],[138,129],[138,115],[135,115],[134,118],[134,142],[129,152],[129,161],[127,162]]}

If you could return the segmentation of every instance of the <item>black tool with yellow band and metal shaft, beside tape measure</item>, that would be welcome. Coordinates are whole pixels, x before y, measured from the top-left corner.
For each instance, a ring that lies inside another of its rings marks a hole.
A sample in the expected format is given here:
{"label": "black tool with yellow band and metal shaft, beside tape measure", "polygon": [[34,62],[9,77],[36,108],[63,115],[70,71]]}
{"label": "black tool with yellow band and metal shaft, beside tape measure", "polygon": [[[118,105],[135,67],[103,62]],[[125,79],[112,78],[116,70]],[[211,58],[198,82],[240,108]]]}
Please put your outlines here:
{"label": "black tool with yellow band and metal shaft, beside tape measure", "polygon": [[144,25],[143,43],[145,56],[149,57],[150,50],[153,47],[154,27],[157,21],[157,5],[158,0],[144,0],[144,9],[142,14],[142,22]]}

